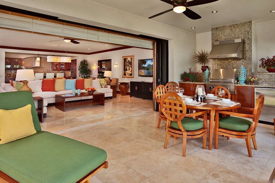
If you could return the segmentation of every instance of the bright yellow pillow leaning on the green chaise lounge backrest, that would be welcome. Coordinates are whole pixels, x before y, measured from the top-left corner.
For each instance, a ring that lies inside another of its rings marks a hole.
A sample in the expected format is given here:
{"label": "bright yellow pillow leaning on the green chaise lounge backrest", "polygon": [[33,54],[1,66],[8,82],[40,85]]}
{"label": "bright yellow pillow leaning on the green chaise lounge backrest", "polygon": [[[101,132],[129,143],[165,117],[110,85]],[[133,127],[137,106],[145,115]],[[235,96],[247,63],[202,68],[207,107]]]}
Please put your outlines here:
{"label": "bright yellow pillow leaning on the green chaise lounge backrest", "polygon": [[0,145],[36,133],[31,104],[13,110],[0,109],[0,119]]}

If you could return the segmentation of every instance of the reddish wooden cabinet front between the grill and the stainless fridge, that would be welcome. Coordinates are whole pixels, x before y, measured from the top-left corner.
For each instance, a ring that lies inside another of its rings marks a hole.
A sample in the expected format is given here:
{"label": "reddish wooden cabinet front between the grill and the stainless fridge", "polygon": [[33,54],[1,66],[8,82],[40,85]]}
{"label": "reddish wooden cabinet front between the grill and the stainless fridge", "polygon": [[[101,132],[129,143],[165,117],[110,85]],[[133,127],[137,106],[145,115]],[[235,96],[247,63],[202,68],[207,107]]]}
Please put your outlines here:
{"label": "reddish wooden cabinet front between the grill and the stainless fridge", "polygon": [[235,86],[235,100],[240,102],[241,108],[236,109],[237,113],[252,114],[252,111],[245,110],[245,108],[255,107],[255,87]]}

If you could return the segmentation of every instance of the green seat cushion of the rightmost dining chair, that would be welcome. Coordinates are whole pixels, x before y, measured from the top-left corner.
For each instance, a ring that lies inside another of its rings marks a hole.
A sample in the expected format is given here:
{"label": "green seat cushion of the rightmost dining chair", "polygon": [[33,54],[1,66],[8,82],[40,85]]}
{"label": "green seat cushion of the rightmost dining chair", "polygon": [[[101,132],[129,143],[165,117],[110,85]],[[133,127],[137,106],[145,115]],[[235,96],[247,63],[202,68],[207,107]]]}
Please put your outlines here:
{"label": "green seat cushion of the rightmost dining chair", "polygon": [[251,124],[249,120],[233,116],[226,116],[219,120],[219,127],[236,131],[247,131]]}

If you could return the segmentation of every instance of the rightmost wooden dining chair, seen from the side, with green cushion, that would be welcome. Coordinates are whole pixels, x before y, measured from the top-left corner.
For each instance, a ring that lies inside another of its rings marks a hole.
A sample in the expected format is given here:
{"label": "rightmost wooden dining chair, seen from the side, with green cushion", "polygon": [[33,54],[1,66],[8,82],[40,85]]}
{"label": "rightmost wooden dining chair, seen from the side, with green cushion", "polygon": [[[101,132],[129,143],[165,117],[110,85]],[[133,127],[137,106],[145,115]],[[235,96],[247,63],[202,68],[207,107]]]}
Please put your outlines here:
{"label": "rightmost wooden dining chair, seen from the side, with green cushion", "polygon": [[[252,157],[250,139],[252,138],[254,149],[257,150],[257,144],[256,144],[256,138],[255,138],[256,127],[258,125],[259,118],[262,113],[264,100],[265,100],[264,95],[260,95],[255,104],[255,108],[254,109],[248,108],[248,110],[252,111],[253,114],[232,113],[228,111],[217,110],[216,116],[215,116],[216,121],[215,121],[215,129],[214,129],[215,149],[218,149],[219,135],[224,135],[224,136],[233,137],[233,138],[242,138],[242,139],[245,139],[247,150],[248,150],[248,156]],[[230,116],[222,117],[221,119],[219,119],[218,118],[219,113],[228,114]],[[232,115],[234,115],[234,117]],[[252,122],[250,120],[240,118],[240,117],[251,118]]]}

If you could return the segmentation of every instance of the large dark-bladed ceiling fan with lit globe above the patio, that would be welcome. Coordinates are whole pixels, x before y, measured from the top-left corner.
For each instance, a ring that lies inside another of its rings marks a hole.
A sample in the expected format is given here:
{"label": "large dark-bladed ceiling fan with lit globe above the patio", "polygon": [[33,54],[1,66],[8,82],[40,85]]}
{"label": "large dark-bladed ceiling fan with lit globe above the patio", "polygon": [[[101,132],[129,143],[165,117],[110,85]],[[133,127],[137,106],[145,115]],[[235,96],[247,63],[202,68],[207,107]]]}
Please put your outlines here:
{"label": "large dark-bladed ceiling fan with lit globe above the patio", "polygon": [[150,16],[149,19],[154,18],[156,16],[160,16],[164,13],[168,13],[168,12],[173,10],[176,13],[185,14],[185,16],[187,16],[190,19],[197,20],[197,19],[200,19],[201,16],[198,15],[197,13],[193,12],[191,9],[188,9],[187,7],[196,6],[196,5],[203,5],[203,4],[215,2],[215,1],[218,1],[218,0],[193,0],[193,1],[189,1],[189,2],[187,2],[187,0],[172,0],[172,1],[171,0],[160,0],[160,1],[166,2],[170,5],[173,5],[174,8],[168,9],[164,12],[161,12],[161,13],[158,13],[156,15]]}

